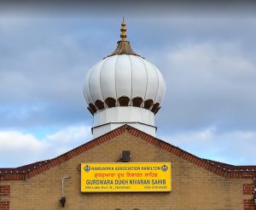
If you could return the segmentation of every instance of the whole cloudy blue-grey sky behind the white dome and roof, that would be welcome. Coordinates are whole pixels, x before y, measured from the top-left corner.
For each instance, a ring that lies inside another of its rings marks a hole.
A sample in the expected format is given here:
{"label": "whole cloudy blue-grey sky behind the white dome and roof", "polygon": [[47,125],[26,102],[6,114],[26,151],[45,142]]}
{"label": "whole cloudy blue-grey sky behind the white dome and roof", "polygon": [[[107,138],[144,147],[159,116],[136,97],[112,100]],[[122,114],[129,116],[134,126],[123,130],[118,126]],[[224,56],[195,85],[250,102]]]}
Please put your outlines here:
{"label": "whole cloudy blue-grey sky behind the white dome and roof", "polygon": [[250,2],[1,3],[0,167],[91,139],[91,65],[113,52],[122,16],[166,96],[157,137],[196,156],[256,165],[256,5]]}

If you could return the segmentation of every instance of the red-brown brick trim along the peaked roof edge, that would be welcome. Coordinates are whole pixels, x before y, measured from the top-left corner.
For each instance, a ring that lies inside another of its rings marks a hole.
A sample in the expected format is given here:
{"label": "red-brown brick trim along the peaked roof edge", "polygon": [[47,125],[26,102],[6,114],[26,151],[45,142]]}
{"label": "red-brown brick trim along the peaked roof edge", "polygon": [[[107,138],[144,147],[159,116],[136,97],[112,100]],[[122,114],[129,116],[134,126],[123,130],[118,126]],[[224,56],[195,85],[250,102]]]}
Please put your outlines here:
{"label": "red-brown brick trim along the peaked roof edge", "polygon": [[212,173],[215,173],[224,178],[230,179],[252,179],[256,177],[256,166],[233,166],[223,162],[214,162],[211,160],[203,159],[198,156],[194,156],[189,152],[178,148],[177,146],[171,145],[161,139],[157,139],[148,133],[131,126],[124,125],[119,128],[105,133],[102,136],[92,139],[84,145],[80,145],[73,150],[69,150],[61,156],[57,156],[53,159],[35,162],[26,166],[15,167],[15,168],[0,168],[0,180],[26,180],[49,170],[51,167],[56,167],[62,162],[67,162],[74,156],[79,156],[86,150],[95,148],[98,145],[102,145],[105,142],[119,136],[122,133],[130,133],[139,139],[148,142],[151,145],[155,145],[161,150],[166,150],[172,155],[179,156],[183,160],[194,163],[195,165],[206,169]]}

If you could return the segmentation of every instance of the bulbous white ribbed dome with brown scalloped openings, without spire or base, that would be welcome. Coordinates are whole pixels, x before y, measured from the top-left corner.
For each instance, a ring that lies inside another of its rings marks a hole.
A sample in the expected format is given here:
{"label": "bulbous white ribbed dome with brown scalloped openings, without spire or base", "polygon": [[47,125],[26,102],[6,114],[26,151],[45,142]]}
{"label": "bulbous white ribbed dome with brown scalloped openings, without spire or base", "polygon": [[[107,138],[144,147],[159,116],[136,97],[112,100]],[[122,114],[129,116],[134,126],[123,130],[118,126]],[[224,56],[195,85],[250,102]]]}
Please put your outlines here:
{"label": "bulbous white ribbed dome with brown scalloped openings, without spire or base", "polygon": [[159,111],[166,84],[158,68],[133,54],[111,55],[87,74],[84,97],[92,114],[116,106]]}

